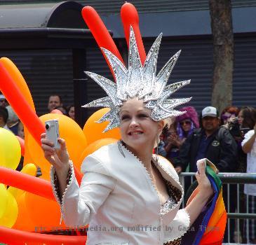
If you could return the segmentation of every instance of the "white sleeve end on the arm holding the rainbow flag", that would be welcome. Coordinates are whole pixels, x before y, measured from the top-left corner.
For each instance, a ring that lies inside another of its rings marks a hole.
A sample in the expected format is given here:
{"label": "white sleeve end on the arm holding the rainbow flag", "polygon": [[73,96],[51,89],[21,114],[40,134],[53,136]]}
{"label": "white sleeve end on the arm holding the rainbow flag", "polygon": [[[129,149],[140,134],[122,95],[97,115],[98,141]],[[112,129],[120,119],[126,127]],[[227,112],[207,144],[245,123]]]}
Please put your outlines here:
{"label": "white sleeve end on the arm holding the rainbow flag", "polygon": [[174,241],[182,237],[187,230],[189,230],[190,217],[186,209],[180,209],[173,221],[171,221],[166,227],[163,228],[164,231],[164,242]]}

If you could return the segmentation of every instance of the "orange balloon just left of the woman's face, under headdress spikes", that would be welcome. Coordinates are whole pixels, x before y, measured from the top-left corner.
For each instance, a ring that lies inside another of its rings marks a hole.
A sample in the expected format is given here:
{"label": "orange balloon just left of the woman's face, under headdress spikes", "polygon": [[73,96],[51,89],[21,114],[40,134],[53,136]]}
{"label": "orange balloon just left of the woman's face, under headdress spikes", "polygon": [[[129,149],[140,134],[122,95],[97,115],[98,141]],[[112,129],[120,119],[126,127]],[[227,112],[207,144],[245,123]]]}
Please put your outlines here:
{"label": "orange balloon just left of the woman's face, under headdress spikes", "polygon": [[103,130],[109,124],[108,122],[95,123],[97,120],[100,120],[102,116],[109,111],[109,108],[103,108],[95,113],[93,113],[90,118],[86,121],[86,124],[83,126],[83,134],[86,135],[87,143],[90,144],[98,139],[112,138],[112,139],[121,139],[121,134],[119,132],[119,127],[114,128],[103,133]]}

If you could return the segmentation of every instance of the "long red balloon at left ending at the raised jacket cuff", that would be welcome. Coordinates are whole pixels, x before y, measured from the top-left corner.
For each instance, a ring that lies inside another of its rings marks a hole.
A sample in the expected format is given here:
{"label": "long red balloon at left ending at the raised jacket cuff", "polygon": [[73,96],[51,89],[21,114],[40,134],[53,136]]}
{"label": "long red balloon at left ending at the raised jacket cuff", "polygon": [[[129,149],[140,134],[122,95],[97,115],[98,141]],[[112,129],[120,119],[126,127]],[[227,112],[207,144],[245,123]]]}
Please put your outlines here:
{"label": "long red balloon at left ending at the raised jacket cuff", "polygon": [[0,183],[55,200],[49,181],[30,176],[29,174],[22,174],[7,167],[0,167]]}

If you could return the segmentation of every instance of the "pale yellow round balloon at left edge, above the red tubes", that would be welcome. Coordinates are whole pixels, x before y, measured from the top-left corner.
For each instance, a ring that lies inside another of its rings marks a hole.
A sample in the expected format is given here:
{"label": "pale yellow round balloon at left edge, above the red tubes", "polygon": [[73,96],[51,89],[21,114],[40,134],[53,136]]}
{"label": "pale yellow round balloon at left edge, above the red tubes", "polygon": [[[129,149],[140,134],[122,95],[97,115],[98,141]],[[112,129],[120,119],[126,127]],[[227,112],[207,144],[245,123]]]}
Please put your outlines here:
{"label": "pale yellow round balloon at left edge, above the red tubes", "polygon": [[18,139],[11,131],[0,127],[0,166],[16,169],[20,156],[21,148]]}

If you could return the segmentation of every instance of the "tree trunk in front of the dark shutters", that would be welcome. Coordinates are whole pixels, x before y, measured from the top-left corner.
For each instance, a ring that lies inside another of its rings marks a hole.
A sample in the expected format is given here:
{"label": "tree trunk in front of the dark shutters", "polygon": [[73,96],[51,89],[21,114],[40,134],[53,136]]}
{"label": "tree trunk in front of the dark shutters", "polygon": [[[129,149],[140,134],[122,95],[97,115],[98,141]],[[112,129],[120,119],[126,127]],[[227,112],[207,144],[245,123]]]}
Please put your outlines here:
{"label": "tree trunk in front of the dark shutters", "polygon": [[234,37],[231,0],[209,0],[213,32],[212,105],[220,112],[232,104]]}

